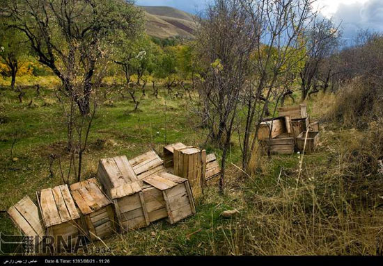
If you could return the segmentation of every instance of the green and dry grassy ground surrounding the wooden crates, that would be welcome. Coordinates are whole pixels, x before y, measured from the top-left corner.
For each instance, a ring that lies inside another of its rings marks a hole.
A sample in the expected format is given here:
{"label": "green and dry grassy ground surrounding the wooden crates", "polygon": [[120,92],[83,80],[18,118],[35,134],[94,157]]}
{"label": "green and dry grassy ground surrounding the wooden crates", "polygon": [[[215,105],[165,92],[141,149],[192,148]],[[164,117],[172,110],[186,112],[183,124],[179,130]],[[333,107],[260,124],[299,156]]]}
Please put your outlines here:
{"label": "green and dry grassy ground surrounding the wooden crates", "polygon": [[[17,93],[0,85],[0,209],[5,210],[26,194],[35,199],[36,190],[62,183],[58,162],[52,165],[53,177],[49,165],[52,154],[64,151],[65,126],[49,83],[39,97],[33,87],[26,89],[23,103]],[[83,178],[95,176],[100,158],[133,158],[149,149],[161,154],[172,142],[203,144],[205,132],[196,126],[185,97],[175,99],[161,90],[155,99],[150,88],[147,94],[137,111],[132,111],[132,101],[118,96],[113,105],[98,110]],[[319,119],[333,102],[331,95],[318,95],[308,101],[309,113]],[[212,185],[194,217],[175,225],[155,222],[91,247],[107,245],[116,255],[382,255],[379,176],[353,175],[346,160],[366,133],[335,124],[321,126],[318,151],[304,156],[301,170],[302,155],[295,153],[260,158],[256,174],[247,176],[234,166],[240,165],[240,149],[233,141],[225,194]],[[219,157],[218,149],[205,148]],[[240,215],[220,217],[233,208]],[[5,213],[0,231],[19,232]]]}

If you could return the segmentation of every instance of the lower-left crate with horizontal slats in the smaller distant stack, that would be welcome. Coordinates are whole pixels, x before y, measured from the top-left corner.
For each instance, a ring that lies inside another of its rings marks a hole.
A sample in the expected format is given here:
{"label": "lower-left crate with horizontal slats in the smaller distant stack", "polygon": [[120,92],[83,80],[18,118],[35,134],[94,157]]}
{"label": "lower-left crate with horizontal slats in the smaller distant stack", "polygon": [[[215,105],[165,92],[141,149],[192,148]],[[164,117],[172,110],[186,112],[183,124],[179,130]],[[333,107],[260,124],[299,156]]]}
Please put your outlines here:
{"label": "lower-left crate with horizontal slats in the smaller distant stack", "polygon": [[295,140],[290,138],[288,133],[281,134],[272,140],[261,140],[260,144],[263,146],[264,153],[270,149],[272,154],[292,154],[295,149]]}

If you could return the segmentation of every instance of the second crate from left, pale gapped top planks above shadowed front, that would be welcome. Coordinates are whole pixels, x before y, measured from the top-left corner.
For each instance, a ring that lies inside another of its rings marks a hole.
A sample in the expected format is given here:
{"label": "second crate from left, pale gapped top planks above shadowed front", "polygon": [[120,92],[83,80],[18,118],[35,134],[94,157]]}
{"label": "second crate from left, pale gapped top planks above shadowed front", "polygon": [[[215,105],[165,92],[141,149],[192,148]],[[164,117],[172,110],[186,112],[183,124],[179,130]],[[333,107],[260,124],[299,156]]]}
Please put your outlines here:
{"label": "second crate from left, pale gapped top planks above shadowed front", "polygon": [[68,185],[47,188],[38,193],[38,203],[48,235],[72,237],[75,244],[79,235],[86,235]]}

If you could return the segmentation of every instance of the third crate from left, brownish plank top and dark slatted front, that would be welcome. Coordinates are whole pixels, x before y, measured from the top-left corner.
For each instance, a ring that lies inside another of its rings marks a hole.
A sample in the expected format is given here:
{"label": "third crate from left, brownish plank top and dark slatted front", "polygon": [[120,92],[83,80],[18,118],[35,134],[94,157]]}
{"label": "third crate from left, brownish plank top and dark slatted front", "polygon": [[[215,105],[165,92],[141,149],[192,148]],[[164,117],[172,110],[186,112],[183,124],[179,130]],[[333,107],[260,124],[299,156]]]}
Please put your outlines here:
{"label": "third crate from left, brownish plank top and dark slatted front", "polygon": [[70,185],[91,240],[105,238],[116,232],[112,202],[97,185],[95,178]]}

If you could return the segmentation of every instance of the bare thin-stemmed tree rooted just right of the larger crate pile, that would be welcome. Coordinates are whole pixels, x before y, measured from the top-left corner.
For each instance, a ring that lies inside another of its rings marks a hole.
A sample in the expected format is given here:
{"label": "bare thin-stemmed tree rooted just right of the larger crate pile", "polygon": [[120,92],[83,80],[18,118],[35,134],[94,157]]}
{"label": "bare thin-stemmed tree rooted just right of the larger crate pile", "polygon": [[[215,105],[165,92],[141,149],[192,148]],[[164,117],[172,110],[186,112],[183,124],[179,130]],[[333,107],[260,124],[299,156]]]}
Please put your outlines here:
{"label": "bare thin-stemmed tree rooted just right of the larger crate pile", "polygon": [[255,28],[239,0],[216,0],[199,21],[198,53],[205,63],[200,113],[210,139],[222,149],[219,188],[224,190],[226,157],[235,129],[240,93],[250,74]]}

